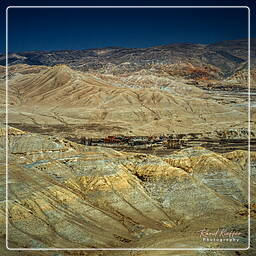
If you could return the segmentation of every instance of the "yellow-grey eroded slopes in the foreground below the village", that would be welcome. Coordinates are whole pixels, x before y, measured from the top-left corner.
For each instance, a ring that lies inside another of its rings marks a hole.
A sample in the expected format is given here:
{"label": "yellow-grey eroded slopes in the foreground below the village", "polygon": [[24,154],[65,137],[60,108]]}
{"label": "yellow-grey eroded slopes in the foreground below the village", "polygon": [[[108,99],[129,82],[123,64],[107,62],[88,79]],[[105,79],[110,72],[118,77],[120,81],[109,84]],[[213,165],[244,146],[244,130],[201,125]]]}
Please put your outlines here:
{"label": "yellow-grey eroded slopes in the foreground below the village", "polygon": [[[232,246],[246,247],[244,151],[217,154],[199,147],[157,157],[13,128],[9,134],[12,248],[200,247],[198,231],[205,227],[242,230]],[[252,187],[253,200],[254,193]],[[3,227],[4,201],[1,212]]]}

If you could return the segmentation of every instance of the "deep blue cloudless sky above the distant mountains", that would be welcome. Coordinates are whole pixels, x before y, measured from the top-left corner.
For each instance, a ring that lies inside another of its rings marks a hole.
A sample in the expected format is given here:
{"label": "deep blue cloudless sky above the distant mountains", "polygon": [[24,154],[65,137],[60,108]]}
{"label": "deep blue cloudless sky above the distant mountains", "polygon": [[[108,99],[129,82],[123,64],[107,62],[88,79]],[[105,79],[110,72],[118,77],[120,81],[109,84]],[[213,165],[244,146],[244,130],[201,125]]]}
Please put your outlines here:
{"label": "deep blue cloudless sky above the distant mountains", "polygon": [[[47,1],[37,3],[46,5]],[[65,1],[58,3],[65,4]],[[220,1],[215,1],[213,5],[218,3]],[[235,5],[241,5],[237,3],[234,2]],[[105,4],[101,2],[101,5]],[[8,10],[9,52],[109,46],[138,48],[171,43],[209,44],[247,37],[248,9],[246,8],[9,8]],[[2,44],[1,52],[5,50],[4,48]]]}

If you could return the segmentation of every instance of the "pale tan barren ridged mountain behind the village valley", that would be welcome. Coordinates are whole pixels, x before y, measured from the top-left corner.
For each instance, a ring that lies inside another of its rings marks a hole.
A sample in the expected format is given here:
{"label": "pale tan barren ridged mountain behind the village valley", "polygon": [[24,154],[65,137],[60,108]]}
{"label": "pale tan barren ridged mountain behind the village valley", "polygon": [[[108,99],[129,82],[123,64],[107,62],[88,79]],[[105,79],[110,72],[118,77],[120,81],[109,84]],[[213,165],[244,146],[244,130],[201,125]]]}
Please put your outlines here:
{"label": "pale tan barren ridged mountain behind the village valley", "polygon": [[119,77],[66,65],[19,64],[10,69],[8,88],[10,123],[62,125],[68,133],[69,125],[77,125],[72,133],[80,136],[208,132],[247,122],[241,99],[229,104],[170,76]]}

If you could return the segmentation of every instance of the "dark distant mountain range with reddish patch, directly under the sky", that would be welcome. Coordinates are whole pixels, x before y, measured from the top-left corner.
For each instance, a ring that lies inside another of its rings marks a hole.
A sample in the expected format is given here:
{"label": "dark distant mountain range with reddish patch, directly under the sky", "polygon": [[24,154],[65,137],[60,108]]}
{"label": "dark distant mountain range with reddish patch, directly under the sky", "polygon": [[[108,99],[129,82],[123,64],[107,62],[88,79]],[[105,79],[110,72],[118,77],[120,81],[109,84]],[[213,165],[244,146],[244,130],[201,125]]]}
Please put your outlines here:
{"label": "dark distant mountain range with reddish patch, directly under the sky", "polygon": [[[149,48],[107,47],[88,50],[32,51],[10,53],[9,64],[65,64],[81,71],[124,73],[155,68],[172,70],[173,65],[194,67],[187,76],[206,78],[228,77],[247,63],[247,40],[223,41],[214,44],[176,43]],[[256,39],[251,40],[252,64],[255,63]],[[0,55],[0,65],[5,56]],[[198,70],[197,70],[198,69]],[[214,72],[211,72],[214,71]]]}

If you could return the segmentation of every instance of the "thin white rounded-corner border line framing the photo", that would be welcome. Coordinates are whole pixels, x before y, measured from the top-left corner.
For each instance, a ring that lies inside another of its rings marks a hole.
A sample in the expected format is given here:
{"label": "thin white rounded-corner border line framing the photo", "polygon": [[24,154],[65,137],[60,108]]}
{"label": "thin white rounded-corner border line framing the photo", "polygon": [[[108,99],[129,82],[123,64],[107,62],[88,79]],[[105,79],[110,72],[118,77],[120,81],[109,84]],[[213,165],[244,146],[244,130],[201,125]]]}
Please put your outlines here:
{"label": "thin white rounded-corner border line framing the photo", "polygon": [[[199,247],[199,248],[10,248],[8,246],[8,11],[9,9],[19,9],[19,8],[54,8],[54,9],[62,9],[62,8],[243,8],[248,10],[248,244],[245,248],[207,248],[207,247]],[[251,40],[251,31],[250,31],[250,15],[251,10],[248,6],[8,6],[5,10],[6,14],[6,248],[10,251],[125,251],[125,250],[134,250],[134,251],[237,251],[237,250],[248,250],[250,249],[250,241],[251,241],[251,223],[250,223],[250,176],[251,176],[251,159],[250,159],[250,141],[251,141],[251,102],[250,102],[250,40]]]}

